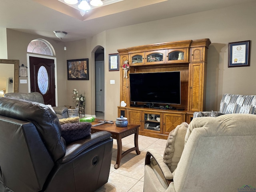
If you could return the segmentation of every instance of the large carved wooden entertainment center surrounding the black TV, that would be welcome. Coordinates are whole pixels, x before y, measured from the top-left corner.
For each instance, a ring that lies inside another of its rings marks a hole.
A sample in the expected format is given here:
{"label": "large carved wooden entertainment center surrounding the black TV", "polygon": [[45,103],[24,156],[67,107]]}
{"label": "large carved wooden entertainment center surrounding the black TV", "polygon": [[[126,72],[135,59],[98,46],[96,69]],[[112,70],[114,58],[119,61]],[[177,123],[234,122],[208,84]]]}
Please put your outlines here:
{"label": "large carved wooden entertainment center surrounding the black TV", "polygon": [[[118,107],[118,116],[127,117],[130,124],[139,124],[140,135],[164,139],[177,125],[190,123],[193,112],[205,110],[207,50],[210,44],[210,39],[199,39],[119,49],[120,102],[127,105]],[[124,77],[122,69],[125,60],[130,65],[128,78]],[[180,71],[180,105],[170,105],[174,110],[131,106],[129,73],[167,71]]]}

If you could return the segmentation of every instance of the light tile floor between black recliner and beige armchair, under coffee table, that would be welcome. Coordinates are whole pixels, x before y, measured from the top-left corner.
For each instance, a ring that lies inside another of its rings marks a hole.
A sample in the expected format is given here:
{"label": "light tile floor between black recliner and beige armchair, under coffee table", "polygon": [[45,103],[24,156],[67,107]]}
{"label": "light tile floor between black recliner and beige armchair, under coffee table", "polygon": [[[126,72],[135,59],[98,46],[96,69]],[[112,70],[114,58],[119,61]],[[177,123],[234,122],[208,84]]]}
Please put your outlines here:
{"label": "light tile floor between black recliner and beige armchair, under coffee table", "polygon": [[[138,145],[140,155],[137,155],[135,151],[130,152],[122,158],[120,167],[115,169],[117,143],[115,139],[113,140],[108,183],[95,192],[143,192],[146,151],[152,148],[158,150],[160,154],[164,154],[166,140],[139,135]],[[123,152],[128,148],[134,147],[134,134],[123,138],[122,146]]]}

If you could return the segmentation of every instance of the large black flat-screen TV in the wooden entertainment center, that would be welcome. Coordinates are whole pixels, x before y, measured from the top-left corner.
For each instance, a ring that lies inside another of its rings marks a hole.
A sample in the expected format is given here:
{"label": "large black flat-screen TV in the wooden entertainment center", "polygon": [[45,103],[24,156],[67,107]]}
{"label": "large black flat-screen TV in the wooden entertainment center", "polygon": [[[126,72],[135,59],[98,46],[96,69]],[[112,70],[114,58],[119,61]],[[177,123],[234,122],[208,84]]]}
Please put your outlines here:
{"label": "large black flat-screen TV in the wooden entertainment center", "polygon": [[130,73],[130,101],[180,104],[180,71]]}

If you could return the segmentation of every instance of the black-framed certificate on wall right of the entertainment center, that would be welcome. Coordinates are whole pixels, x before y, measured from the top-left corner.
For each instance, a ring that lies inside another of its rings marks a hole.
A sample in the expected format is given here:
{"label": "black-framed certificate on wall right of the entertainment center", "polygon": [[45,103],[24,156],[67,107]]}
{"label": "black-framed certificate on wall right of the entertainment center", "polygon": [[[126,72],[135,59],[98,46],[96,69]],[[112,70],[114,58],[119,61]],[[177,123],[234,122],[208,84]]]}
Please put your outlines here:
{"label": "black-framed certificate on wall right of the entertainment center", "polygon": [[250,66],[250,40],[228,44],[228,67]]}

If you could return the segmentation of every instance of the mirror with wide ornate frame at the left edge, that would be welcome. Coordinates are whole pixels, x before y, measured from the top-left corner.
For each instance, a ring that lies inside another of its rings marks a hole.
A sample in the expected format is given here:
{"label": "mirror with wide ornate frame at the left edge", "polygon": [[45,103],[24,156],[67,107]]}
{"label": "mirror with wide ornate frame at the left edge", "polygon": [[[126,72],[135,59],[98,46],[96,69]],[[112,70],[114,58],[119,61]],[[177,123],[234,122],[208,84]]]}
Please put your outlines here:
{"label": "mirror with wide ornate frame at the left edge", "polygon": [[0,97],[19,92],[19,60],[0,59]]}

